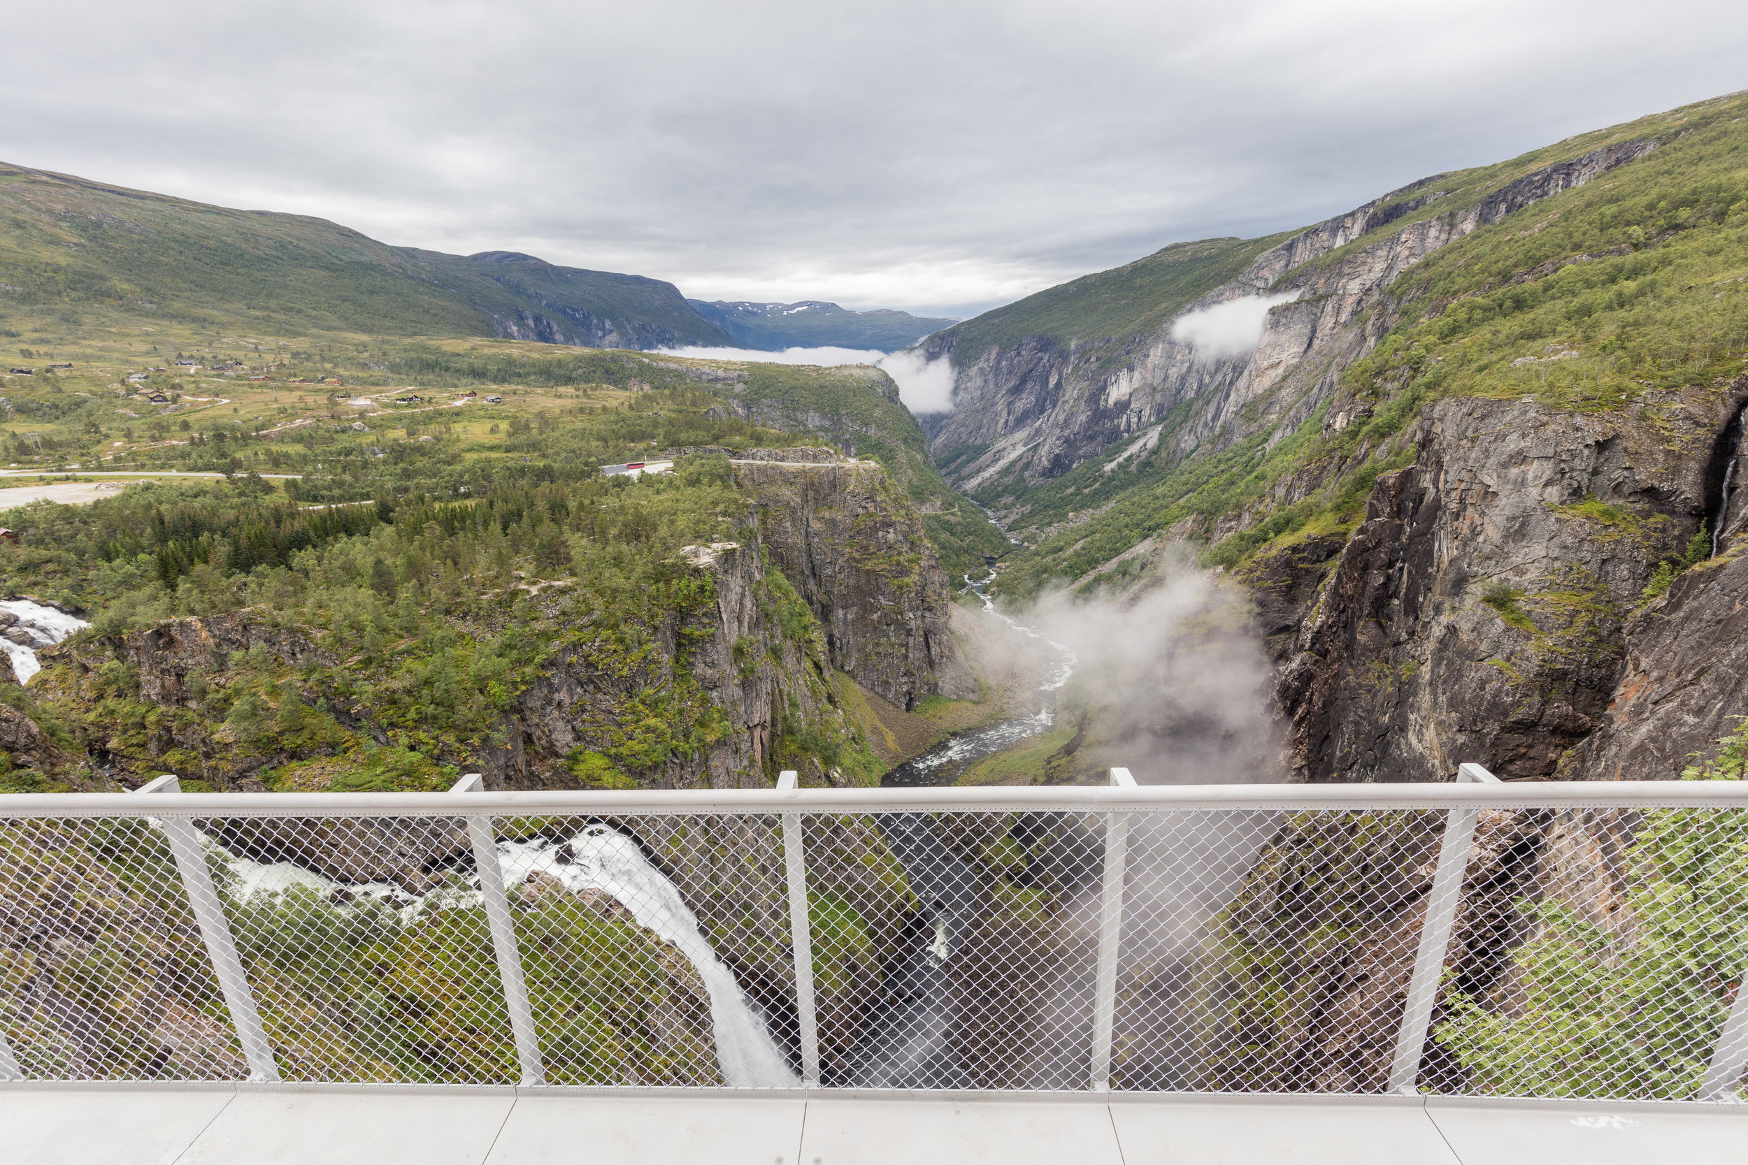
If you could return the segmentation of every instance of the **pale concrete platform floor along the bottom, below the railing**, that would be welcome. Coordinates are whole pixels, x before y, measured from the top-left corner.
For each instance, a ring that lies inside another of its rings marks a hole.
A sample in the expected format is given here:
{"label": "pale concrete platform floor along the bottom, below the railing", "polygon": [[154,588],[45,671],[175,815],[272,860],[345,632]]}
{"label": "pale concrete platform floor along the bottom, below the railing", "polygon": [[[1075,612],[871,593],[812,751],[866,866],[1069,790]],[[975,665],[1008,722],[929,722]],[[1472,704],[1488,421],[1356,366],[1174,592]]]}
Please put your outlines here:
{"label": "pale concrete platform floor along the bottom, below the railing", "polygon": [[0,1085],[3,1165],[1736,1165],[1748,1106]]}

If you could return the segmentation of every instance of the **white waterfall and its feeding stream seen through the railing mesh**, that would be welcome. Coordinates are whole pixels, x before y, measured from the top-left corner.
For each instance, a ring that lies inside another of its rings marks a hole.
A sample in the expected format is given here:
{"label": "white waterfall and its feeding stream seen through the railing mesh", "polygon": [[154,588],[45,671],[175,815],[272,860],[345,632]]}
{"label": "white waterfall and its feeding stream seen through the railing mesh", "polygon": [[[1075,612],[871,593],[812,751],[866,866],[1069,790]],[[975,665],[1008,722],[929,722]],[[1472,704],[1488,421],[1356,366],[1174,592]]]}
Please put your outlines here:
{"label": "white waterfall and its feeding stream seen through the railing mesh", "polygon": [[[385,903],[400,922],[413,924],[428,910],[479,908],[479,879],[472,889],[442,887],[428,894],[411,894],[388,882],[346,884],[292,863],[259,863],[238,858],[208,842],[231,868],[231,893],[239,901],[281,898],[290,891],[311,891],[337,910]],[[601,891],[615,898],[640,926],[673,943],[697,969],[710,990],[710,1022],[717,1037],[717,1065],[732,1088],[795,1088],[801,1081],[771,1039],[769,1029],[753,1011],[710,941],[699,933],[697,919],[687,910],[661,870],[652,866],[624,833],[605,824],[591,824],[568,842],[545,838],[500,842],[498,861],[507,889],[521,886],[535,872],[556,879],[565,889]]]}

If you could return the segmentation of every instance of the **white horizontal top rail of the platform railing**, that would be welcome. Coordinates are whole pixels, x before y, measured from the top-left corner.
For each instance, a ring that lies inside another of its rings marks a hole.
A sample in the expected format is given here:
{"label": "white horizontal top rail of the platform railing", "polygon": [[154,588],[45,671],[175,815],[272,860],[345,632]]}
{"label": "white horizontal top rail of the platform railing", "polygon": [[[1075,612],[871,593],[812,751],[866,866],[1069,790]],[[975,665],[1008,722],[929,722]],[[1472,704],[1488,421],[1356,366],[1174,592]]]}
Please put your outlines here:
{"label": "white horizontal top rail of the platform railing", "polygon": [[0,817],[649,816],[1002,810],[1748,809],[1748,781],[1514,784],[1180,784],[940,789],[628,789],[470,793],[5,793]]}

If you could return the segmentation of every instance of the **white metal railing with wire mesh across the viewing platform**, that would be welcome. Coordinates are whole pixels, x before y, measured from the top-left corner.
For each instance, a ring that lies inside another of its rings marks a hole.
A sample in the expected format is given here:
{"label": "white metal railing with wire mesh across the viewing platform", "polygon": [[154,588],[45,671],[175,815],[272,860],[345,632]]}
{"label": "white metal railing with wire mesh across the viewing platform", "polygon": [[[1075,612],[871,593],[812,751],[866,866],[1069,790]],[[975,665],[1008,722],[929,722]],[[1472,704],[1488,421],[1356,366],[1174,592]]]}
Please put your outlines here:
{"label": "white metal railing with wire mesh across the viewing platform", "polygon": [[[12,795],[0,1079],[1736,1100],[1743,852],[1743,782],[1479,765],[1390,786],[1113,769],[1106,788]],[[1689,908],[1669,887],[1710,927],[1692,966],[1657,947],[1659,912]]]}

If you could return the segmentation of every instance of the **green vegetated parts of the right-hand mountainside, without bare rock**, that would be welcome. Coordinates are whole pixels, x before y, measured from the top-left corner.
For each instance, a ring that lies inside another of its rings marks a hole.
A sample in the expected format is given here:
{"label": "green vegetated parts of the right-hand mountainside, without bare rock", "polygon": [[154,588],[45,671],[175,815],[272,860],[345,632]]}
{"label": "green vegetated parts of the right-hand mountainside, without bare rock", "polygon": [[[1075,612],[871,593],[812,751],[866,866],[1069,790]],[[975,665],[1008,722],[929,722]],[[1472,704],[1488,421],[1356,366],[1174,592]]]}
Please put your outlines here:
{"label": "green vegetated parts of the right-hand mountainside, without bare rock", "polygon": [[[1105,466],[1126,442],[1049,482],[1003,475],[974,491],[984,505],[1024,512],[1016,533],[1028,548],[1014,555],[1002,587],[1030,594],[1082,580],[1185,519],[1201,531],[1206,561],[1229,568],[1269,543],[1351,527],[1372,480],[1412,459],[1412,423],[1442,396],[1533,395],[1559,409],[1655,426],[1655,409],[1638,403],[1643,393],[1741,376],[1748,369],[1745,114],[1748,96],[1731,96],[1580,134],[1496,166],[1439,175],[1444,197],[1313,265],[1337,264],[1407,224],[1454,215],[1516,178],[1606,143],[1661,141],[1601,180],[1433,252],[1391,285],[1376,309],[1388,313],[1391,327],[1376,349],[1339,370],[1334,388],[1341,407],[1360,412],[1363,423],[1325,433],[1325,409],[1335,407],[1327,403],[1283,433],[1260,417],[1287,402],[1264,396],[1220,440],[1175,454],[1173,438],[1201,403],[1185,402],[1162,417],[1159,449],[1117,470]],[[960,363],[1030,335],[1134,339],[1280,238],[1166,248],[961,323],[946,337],[956,337]],[[1143,286],[1145,295],[1120,293]],[[1559,360],[1547,360],[1549,353]],[[947,470],[953,456],[937,451]],[[1271,503],[1294,475],[1321,486],[1292,505]],[[1239,533],[1208,541],[1206,531],[1236,515],[1245,515]],[[1124,564],[1113,564],[1094,585],[1119,580],[1122,571]]]}

